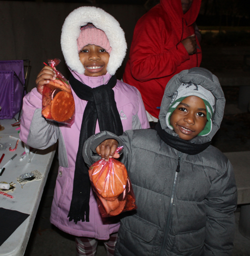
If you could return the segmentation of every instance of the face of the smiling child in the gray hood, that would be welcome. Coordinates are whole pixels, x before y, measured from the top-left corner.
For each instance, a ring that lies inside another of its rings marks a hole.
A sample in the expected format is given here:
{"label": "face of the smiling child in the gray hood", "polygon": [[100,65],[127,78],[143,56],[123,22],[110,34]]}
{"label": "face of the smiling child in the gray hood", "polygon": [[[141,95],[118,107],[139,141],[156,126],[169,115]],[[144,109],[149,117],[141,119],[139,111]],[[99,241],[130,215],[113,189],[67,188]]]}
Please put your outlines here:
{"label": "face of the smiling child in the gray hood", "polygon": [[205,103],[197,96],[184,98],[170,115],[173,131],[185,141],[203,131],[206,121]]}

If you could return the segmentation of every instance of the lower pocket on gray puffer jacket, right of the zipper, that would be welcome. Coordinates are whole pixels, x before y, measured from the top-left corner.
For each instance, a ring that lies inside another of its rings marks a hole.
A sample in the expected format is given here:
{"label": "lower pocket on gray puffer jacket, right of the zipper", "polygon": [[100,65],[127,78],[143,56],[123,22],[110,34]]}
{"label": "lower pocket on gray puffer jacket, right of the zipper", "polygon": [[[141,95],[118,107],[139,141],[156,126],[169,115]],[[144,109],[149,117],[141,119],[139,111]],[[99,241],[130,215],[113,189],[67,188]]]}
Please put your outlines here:
{"label": "lower pocket on gray puffer jacket, right of the zipper", "polygon": [[197,249],[204,244],[205,227],[192,232],[178,233],[175,235],[175,239],[178,251],[184,252]]}

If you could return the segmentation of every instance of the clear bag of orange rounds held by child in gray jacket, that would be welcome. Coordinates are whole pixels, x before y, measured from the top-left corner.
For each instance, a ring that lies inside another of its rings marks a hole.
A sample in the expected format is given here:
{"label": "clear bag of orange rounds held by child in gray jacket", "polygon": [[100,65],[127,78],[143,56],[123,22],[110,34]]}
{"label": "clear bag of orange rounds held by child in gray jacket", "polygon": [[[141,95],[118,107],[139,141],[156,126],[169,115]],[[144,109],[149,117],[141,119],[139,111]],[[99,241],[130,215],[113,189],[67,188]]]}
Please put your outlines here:
{"label": "clear bag of orange rounds held by child in gray jacket", "polygon": [[[118,153],[122,147],[117,148]],[[102,217],[136,209],[132,185],[125,166],[114,158],[99,160],[89,167],[89,179]]]}

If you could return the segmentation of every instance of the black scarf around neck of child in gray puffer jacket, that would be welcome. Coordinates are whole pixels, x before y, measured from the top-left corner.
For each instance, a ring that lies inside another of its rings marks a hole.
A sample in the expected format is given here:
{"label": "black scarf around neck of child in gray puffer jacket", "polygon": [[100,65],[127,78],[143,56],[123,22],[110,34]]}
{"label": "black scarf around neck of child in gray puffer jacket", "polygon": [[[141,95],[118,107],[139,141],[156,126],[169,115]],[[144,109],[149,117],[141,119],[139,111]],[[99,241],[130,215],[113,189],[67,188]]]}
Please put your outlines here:
{"label": "black scarf around neck of child in gray puffer jacket", "polygon": [[196,155],[205,150],[211,144],[211,142],[207,142],[204,144],[194,144],[190,143],[189,141],[184,141],[178,137],[172,136],[161,128],[159,121],[155,126],[155,130],[157,131],[158,136],[164,143],[176,149],[177,151],[188,155]]}

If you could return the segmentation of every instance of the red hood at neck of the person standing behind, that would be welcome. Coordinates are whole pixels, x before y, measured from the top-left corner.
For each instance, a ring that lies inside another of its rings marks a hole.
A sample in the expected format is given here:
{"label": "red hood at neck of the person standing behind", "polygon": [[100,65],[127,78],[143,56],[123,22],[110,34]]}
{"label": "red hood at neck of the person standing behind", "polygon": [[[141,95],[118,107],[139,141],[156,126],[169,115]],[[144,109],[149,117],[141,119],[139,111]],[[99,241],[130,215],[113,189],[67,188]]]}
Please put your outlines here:
{"label": "red hood at neck of the person standing behind", "polygon": [[186,26],[192,25],[199,14],[200,4],[201,0],[193,0],[190,9],[183,14],[180,0],[160,0],[160,5],[167,13],[169,20],[176,25],[182,21],[182,18],[185,20]]}

